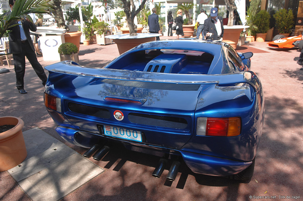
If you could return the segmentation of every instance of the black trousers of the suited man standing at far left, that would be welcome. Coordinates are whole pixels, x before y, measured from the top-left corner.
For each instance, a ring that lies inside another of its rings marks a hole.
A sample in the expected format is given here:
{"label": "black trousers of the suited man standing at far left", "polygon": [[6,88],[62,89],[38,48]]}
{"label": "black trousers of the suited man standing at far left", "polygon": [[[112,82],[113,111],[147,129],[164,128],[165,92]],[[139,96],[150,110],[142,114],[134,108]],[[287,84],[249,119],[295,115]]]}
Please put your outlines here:
{"label": "black trousers of the suited man standing at far left", "polygon": [[13,54],[14,64],[15,64],[15,73],[16,73],[16,86],[18,89],[24,88],[24,74],[25,74],[25,56],[28,61],[32,64],[36,74],[42,80],[43,86],[47,81],[44,68],[38,62],[36,53],[32,50],[28,41],[21,43],[22,52]]}

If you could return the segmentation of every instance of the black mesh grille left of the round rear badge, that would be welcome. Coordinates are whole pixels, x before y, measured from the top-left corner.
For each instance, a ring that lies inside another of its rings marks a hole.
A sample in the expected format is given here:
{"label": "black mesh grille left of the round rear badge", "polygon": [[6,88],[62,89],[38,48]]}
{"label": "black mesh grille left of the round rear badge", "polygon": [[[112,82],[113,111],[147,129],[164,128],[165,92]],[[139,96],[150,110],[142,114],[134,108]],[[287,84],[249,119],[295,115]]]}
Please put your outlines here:
{"label": "black mesh grille left of the round rear badge", "polygon": [[85,115],[100,117],[104,119],[110,118],[109,111],[103,108],[80,105],[76,103],[68,103],[68,109],[71,110],[72,112],[76,112],[79,114],[85,114]]}

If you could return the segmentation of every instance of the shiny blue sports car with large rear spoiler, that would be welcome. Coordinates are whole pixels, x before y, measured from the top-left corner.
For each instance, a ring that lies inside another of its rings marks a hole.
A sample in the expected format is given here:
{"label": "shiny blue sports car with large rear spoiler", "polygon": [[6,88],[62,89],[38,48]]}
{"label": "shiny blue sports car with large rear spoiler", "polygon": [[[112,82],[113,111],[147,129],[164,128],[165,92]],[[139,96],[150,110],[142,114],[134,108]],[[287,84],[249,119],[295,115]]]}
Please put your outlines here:
{"label": "shiny blue sports car with large rear spoiler", "polygon": [[[264,122],[251,52],[208,40],[140,44],[104,67],[45,67],[45,106],[69,143],[102,160],[111,147],[159,156],[152,173],[193,172],[249,182]],[[172,163],[166,167],[167,161]]]}

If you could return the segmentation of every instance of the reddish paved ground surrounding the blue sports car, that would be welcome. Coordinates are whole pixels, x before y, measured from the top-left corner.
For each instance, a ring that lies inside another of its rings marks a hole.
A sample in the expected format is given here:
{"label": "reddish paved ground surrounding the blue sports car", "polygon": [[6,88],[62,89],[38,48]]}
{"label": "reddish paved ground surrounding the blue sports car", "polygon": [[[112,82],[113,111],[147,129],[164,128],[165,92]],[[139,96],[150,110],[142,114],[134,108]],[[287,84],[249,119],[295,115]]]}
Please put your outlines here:
{"label": "reddish paved ground surrounding the blue sports car", "polygon": [[[161,37],[164,38],[174,37]],[[105,171],[62,200],[253,200],[249,196],[303,199],[303,71],[297,64],[300,52],[271,49],[266,42],[252,42],[237,50],[254,52],[251,70],[260,77],[265,92],[265,124],[250,183],[198,175],[184,165],[176,180],[169,182],[165,180],[169,166],[161,178],[151,176],[157,157],[115,147],[100,162],[90,159]],[[80,46],[82,65],[101,67],[116,56],[116,44]],[[39,61],[42,66],[56,62],[43,61],[42,57]],[[0,115],[20,117],[25,123],[24,133],[38,127],[83,154],[86,149],[66,143],[56,134],[55,124],[44,107],[43,87],[30,64],[25,72],[28,94],[18,93],[15,73],[10,70],[0,74]],[[0,200],[31,200],[8,171],[0,172],[0,186]],[[37,185],[34,183],[31,188]],[[42,189],[36,192],[43,194]],[[61,189],[54,193],[61,193]]]}

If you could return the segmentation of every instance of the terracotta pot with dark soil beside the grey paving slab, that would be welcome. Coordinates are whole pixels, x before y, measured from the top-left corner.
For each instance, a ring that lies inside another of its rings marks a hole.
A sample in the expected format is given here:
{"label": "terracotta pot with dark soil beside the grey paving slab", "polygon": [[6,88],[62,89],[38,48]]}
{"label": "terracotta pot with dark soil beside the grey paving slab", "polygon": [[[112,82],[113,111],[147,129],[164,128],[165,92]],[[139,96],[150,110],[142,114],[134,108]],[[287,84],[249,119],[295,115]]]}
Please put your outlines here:
{"label": "terracotta pot with dark soil beside the grey paving slab", "polygon": [[0,117],[0,126],[15,125],[0,133],[0,172],[19,165],[27,156],[22,128],[24,122],[18,117]]}

